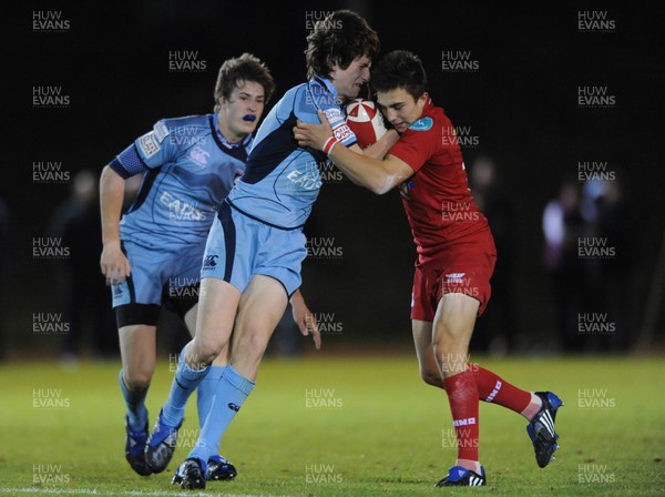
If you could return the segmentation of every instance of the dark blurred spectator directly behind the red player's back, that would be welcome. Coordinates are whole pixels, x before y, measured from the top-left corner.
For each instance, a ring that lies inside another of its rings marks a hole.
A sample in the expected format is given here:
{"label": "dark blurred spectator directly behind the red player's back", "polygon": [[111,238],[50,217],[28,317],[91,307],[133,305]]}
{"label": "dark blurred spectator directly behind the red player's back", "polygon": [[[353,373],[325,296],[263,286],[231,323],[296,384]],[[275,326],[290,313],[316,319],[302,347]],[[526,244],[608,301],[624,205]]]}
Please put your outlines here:
{"label": "dark blurred spectator directly behind the red player's back", "polygon": [[475,204],[485,215],[497,245],[497,266],[492,276],[492,297],[475,324],[473,351],[503,354],[514,349],[516,335],[515,301],[515,209],[503,187],[494,160],[479,156],[470,168],[469,184]]}

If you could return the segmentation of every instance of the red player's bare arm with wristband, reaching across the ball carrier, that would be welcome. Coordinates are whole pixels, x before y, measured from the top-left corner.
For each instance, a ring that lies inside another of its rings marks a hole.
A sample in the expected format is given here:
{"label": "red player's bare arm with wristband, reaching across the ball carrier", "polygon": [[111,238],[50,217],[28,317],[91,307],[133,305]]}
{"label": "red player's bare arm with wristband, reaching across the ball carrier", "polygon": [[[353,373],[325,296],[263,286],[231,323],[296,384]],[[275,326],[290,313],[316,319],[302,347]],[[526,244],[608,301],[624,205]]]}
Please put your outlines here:
{"label": "red player's bare arm with wristband, reaching across the ball carrier", "polygon": [[[327,152],[330,160],[354,183],[382,195],[413,175],[411,166],[395,155],[389,154],[385,159],[378,160],[356,153],[341,143],[332,144],[330,142],[330,140],[334,140],[332,130],[326,114],[319,111],[319,119],[321,124],[298,121],[296,128],[294,128],[294,135],[298,141],[298,145]],[[330,150],[331,144],[332,149]]]}

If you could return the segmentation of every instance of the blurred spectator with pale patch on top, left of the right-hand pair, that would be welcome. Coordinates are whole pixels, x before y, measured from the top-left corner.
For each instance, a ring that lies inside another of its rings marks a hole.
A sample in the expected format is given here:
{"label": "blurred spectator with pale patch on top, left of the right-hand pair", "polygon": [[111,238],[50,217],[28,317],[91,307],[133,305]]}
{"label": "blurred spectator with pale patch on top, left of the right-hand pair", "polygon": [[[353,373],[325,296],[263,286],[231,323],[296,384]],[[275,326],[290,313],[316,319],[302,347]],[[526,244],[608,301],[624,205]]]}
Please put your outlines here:
{"label": "blurred spectator with pale patch on top, left of the right-hand pair", "polygon": [[579,256],[579,241],[589,235],[589,226],[582,216],[576,180],[565,180],[559,197],[545,206],[543,232],[561,345],[564,352],[581,352],[585,336],[579,333],[579,313],[591,310],[592,294],[586,260]]}

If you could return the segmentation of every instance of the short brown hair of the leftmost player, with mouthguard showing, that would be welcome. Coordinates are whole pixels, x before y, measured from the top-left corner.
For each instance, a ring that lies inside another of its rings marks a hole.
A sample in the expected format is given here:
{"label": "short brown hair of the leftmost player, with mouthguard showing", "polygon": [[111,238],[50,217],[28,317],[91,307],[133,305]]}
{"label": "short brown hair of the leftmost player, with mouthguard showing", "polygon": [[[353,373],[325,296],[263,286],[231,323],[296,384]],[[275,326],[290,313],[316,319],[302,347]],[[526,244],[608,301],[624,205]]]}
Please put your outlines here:
{"label": "short brown hair of the leftmost player, with mouthguard showing", "polygon": [[219,68],[215,83],[215,112],[219,112],[219,98],[229,99],[233,90],[242,82],[253,81],[263,87],[266,102],[275,91],[275,80],[270,71],[258,58],[252,53],[224,61]]}

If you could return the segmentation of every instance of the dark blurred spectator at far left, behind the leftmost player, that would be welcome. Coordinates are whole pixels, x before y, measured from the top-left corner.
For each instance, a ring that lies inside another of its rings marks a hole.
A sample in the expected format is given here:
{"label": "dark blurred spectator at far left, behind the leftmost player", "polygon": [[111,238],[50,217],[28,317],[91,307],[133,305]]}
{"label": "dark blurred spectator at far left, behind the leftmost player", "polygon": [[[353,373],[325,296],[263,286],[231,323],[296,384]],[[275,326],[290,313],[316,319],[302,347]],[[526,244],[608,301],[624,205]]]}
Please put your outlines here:
{"label": "dark blurred spectator at far left, behind the leftmost player", "polygon": [[96,357],[117,354],[115,321],[110,293],[100,274],[101,220],[96,176],[81,171],[73,176],[71,196],[57,209],[50,233],[62,239],[70,256],[59,265],[58,280],[63,321],[61,357],[74,361],[85,343]]}

